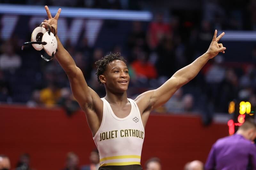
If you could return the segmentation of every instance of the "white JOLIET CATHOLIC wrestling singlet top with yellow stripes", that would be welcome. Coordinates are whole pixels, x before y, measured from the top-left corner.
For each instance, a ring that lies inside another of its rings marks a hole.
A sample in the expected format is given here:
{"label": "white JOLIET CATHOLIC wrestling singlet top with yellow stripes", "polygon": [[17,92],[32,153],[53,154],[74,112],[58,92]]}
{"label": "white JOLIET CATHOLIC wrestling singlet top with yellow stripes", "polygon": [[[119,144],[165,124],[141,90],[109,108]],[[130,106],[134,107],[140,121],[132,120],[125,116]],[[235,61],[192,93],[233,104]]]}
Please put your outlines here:
{"label": "white JOLIET CATHOLIC wrestling singlet top with yellow stripes", "polygon": [[99,150],[100,166],[140,165],[145,137],[140,111],[132,99],[131,112],[118,118],[107,100],[103,100],[103,118],[93,140]]}

